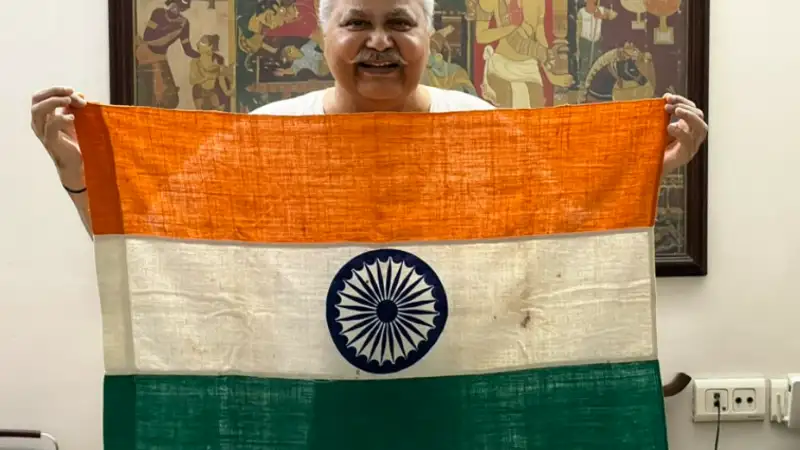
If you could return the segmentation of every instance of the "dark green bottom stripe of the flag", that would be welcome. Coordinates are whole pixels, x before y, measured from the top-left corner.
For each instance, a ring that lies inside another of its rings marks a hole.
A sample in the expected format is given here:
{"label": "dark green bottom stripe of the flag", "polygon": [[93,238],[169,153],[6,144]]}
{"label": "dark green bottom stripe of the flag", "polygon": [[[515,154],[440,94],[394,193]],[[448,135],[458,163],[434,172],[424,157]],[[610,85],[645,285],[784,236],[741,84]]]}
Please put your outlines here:
{"label": "dark green bottom stripe of the flag", "polygon": [[436,378],[108,376],[108,450],[666,450],[657,361]]}

